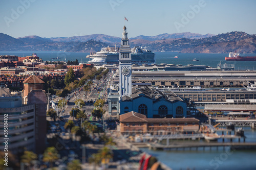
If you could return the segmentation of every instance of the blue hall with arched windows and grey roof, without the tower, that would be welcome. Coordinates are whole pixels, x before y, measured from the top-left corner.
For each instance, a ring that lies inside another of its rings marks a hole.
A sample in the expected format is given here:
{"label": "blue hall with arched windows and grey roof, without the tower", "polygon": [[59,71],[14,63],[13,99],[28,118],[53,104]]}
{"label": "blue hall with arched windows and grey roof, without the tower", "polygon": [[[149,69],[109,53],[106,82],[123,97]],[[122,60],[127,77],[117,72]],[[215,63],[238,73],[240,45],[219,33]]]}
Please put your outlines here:
{"label": "blue hall with arched windows and grey roof, without the tower", "polygon": [[153,87],[133,87],[131,98],[120,100],[120,114],[135,111],[147,118],[186,117],[186,103],[173,92],[160,92]]}

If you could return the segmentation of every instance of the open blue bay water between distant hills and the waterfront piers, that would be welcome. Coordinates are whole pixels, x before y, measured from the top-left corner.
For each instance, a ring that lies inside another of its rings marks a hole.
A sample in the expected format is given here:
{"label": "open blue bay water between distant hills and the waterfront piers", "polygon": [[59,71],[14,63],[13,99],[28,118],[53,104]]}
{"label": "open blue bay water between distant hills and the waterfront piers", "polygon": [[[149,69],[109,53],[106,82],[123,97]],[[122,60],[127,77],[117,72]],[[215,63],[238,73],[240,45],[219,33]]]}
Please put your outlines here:
{"label": "open blue bay water between distant hills and the waterfront piers", "polygon": [[[31,56],[36,53],[39,58],[44,61],[75,61],[87,63],[90,59],[86,58],[90,53],[68,53],[68,52],[1,52],[0,55],[16,55],[19,57]],[[178,58],[174,58],[178,56]],[[206,65],[210,67],[217,67],[218,63],[221,64],[234,64],[236,70],[254,70],[256,69],[256,61],[225,61],[225,57],[228,54],[187,54],[177,52],[156,52],[155,60],[157,64],[194,64],[194,65]],[[256,56],[256,54],[241,54],[241,56]],[[53,58],[59,58],[58,60]],[[191,61],[196,58],[199,61]]]}

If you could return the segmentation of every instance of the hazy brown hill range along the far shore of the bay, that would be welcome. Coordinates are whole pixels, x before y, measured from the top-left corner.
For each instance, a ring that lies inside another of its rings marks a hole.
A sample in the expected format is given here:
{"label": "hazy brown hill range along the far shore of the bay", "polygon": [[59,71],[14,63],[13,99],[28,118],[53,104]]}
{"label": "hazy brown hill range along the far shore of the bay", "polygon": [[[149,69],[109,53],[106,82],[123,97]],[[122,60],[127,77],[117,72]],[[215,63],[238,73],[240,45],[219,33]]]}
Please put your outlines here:
{"label": "hazy brown hill range along the far shore of the bay", "polygon": [[[108,45],[120,46],[121,38],[93,34],[74,37],[42,38],[27,36],[13,38],[0,33],[0,51],[66,51],[97,52]],[[161,34],[137,36],[130,39],[131,47],[145,46],[154,52],[179,51],[181,53],[256,53],[256,35],[233,31],[219,35],[212,34]]]}

